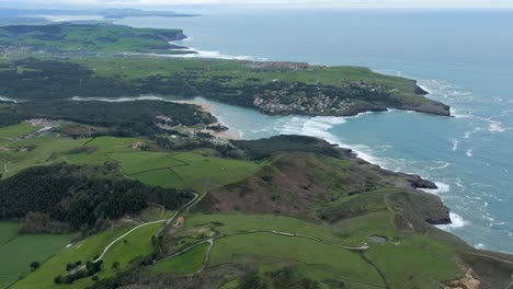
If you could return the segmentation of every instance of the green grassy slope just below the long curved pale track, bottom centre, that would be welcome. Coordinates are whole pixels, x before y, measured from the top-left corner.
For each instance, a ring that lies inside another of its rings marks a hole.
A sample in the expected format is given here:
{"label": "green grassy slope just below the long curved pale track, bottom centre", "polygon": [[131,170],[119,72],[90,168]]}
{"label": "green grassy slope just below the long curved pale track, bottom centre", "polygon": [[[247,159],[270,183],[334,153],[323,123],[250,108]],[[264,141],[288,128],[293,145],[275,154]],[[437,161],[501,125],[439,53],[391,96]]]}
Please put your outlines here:
{"label": "green grassy slope just below the long curved pale track, bottom centre", "polygon": [[228,263],[258,263],[263,271],[276,266],[295,265],[301,273],[306,271],[309,278],[318,281],[335,278],[375,286],[384,285],[376,270],[358,254],[307,239],[271,233],[235,235],[217,240],[212,251],[209,266]]}

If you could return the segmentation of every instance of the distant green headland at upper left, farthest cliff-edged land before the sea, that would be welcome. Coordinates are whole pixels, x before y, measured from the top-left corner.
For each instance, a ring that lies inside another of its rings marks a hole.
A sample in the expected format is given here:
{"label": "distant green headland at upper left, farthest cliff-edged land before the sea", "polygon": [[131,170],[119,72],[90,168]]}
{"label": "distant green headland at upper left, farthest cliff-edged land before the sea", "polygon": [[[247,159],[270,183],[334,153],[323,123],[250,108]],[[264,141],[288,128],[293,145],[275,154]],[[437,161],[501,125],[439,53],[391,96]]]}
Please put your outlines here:
{"label": "distant green headland at upper left, farthest cliff-edged land before the sea", "polygon": [[0,27],[4,53],[104,55],[170,53],[169,42],[185,38],[181,30],[133,28],[111,24],[12,25]]}

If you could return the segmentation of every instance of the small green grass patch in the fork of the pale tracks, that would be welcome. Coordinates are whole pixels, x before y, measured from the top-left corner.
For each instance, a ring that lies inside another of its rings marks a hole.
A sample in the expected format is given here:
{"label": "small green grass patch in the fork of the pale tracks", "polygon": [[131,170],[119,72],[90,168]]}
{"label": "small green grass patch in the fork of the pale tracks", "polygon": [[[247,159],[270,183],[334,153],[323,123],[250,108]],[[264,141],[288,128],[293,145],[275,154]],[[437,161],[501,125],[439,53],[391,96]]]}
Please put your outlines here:
{"label": "small green grass patch in the fork of the pale tracks", "polygon": [[150,273],[158,274],[193,274],[200,270],[205,261],[205,254],[208,250],[208,244],[198,245],[183,255],[175,258],[157,263],[150,267]]}

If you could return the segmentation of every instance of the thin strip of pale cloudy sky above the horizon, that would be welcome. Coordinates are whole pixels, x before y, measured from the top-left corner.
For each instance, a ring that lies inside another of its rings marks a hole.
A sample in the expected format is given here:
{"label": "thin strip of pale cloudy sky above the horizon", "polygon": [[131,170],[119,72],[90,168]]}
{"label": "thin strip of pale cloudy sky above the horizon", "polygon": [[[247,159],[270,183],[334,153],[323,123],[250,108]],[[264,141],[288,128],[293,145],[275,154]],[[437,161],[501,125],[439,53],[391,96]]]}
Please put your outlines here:
{"label": "thin strip of pale cloudy sky above the horizon", "polygon": [[175,5],[235,5],[263,8],[428,8],[428,9],[513,9],[513,0],[0,0],[0,7],[70,8]]}

